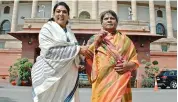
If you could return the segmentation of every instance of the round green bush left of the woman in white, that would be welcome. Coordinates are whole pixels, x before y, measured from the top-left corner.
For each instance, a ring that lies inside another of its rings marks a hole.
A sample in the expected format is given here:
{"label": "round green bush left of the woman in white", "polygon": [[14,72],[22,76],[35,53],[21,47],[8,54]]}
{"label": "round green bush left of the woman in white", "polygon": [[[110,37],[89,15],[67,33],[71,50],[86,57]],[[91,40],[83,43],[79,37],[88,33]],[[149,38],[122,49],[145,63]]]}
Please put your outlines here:
{"label": "round green bush left of the woman in white", "polygon": [[20,85],[21,81],[29,81],[31,79],[31,68],[32,63],[27,58],[20,58],[10,66],[10,82],[16,80],[17,84]]}

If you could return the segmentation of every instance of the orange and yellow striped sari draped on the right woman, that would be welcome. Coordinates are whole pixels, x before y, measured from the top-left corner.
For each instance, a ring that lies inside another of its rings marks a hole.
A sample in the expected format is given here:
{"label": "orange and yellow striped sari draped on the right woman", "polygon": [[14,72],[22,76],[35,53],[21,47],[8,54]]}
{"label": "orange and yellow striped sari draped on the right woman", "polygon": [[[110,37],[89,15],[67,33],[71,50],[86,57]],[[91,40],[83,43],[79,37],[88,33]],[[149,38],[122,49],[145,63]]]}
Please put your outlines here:
{"label": "orange and yellow striped sari draped on the right woman", "polygon": [[[89,42],[92,39],[94,37]],[[92,83],[92,102],[132,102],[131,71],[119,74],[114,70],[121,58],[135,62],[138,67],[132,41],[126,35],[116,32],[113,39],[106,40],[97,49],[92,43],[89,52],[93,54],[93,60],[86,59],[86,70]]]}

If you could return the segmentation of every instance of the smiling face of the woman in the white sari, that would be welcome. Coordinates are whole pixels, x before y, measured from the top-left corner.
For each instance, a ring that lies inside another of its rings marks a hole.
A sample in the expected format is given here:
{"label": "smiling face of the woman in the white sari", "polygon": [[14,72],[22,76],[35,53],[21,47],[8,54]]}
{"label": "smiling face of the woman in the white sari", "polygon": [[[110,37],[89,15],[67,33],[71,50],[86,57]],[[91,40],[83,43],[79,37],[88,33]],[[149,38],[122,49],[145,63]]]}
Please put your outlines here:
{"label": "smiling face of the woman in the white sari", "polygon": [[68,19],[69,13],[67,9],[64,6],[59,5],[54,12],[54,21],[58,23],[62,28],[65,28]]}

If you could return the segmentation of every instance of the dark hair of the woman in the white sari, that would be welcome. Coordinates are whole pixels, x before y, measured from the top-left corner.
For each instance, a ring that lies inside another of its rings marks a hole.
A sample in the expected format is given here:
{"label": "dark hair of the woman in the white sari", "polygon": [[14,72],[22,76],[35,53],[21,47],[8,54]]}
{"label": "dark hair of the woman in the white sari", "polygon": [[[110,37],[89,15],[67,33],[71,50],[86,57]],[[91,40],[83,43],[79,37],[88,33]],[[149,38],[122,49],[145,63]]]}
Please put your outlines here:
{"label": "dark hair of the woman in the white sari", "polygon": [[[67,9],[68,15],[70,14],[70,8],[69,8],[69,6],[68,6],[65,2],[59,2],[59,3],[57,3],[57,4],[54,6],[54,8],[53,8],[53,13],[55,12],[55,10],[56,10],[56,8],[57,8],[58,6],[64,6],[64,7]],[[50,18],[48,21],[54,21],[54,18]]]}

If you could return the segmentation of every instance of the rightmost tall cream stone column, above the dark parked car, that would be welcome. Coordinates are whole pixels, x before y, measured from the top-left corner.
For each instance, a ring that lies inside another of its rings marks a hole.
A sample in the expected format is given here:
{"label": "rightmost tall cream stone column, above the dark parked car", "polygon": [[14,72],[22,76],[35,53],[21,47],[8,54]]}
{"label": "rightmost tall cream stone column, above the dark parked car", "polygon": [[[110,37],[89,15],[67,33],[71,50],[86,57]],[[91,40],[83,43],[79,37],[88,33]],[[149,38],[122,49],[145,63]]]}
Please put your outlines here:
{"label": "rightmost tall cream stone column, above the dark parked car", "polygon": [[171,6],[169,0],[166,0],[166,20],[167,20],[167,37],[173,38]]}

